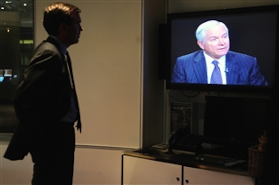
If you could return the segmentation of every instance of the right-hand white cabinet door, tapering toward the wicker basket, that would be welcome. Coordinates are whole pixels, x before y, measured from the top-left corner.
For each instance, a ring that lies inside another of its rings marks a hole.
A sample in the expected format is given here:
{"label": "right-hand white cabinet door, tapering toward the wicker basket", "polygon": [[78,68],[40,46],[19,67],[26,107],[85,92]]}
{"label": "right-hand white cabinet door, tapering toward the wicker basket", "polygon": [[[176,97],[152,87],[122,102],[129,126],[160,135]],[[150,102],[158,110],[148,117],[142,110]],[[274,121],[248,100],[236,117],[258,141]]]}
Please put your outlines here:
{"label": "right-hand white cabinet door, tapering toward the wicker basket", "polygon": [[184,185],[187,184],[255,184],[254,178],[184,166]]}

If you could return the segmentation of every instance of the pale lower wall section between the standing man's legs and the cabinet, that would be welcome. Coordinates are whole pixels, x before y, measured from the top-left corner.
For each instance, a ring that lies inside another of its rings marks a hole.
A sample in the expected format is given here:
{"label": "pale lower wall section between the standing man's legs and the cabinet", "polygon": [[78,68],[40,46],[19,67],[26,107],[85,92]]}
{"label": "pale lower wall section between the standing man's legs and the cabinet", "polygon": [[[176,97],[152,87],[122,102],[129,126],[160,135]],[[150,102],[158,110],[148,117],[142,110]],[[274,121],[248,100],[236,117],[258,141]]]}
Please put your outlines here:
{"label": "pale lower wall section between the standing man's legs and the cabinet", "polygon": [[73,184],[121,184],[122,150],[76,148]]}

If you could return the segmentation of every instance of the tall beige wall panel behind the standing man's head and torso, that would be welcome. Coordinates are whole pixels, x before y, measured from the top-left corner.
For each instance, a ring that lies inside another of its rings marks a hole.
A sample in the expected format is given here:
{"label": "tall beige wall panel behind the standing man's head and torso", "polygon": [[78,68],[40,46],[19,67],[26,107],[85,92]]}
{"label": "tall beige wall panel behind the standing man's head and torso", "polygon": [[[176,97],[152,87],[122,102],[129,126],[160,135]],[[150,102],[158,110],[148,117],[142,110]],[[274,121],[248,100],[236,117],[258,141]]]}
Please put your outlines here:
{"label": "tall beige wall panel behind the standing man's head and torso", "polygon": [[[35,1],[35,45],[47,38],[42,12],[52,2]],[[77,144],[140,147],[141,1],[64,2],[81,9],[84,28],[68,48],[83,124]]]}

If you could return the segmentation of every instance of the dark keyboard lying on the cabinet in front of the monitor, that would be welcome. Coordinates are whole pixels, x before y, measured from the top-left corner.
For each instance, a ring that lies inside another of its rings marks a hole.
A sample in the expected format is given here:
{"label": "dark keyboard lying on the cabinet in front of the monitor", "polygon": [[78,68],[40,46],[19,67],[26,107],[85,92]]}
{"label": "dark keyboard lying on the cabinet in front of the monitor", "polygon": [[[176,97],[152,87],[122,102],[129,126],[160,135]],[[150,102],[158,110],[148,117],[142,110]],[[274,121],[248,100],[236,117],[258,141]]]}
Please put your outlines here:
{"label": "dark keyboard lying on the cabinet in front of the monitor", "polygon": [[200,155],[196,156],[195,159],[198,161],[220,164],[220,165],[224,165],[227,167],[232,167],[237,164],[242,164],[242,163],[247,162],[246,160],[242,160],[242,159],[236,159],[236,158],[225,157],[225,156],[217,156],[217,155],[211,155],[211,154],[200,154]]}

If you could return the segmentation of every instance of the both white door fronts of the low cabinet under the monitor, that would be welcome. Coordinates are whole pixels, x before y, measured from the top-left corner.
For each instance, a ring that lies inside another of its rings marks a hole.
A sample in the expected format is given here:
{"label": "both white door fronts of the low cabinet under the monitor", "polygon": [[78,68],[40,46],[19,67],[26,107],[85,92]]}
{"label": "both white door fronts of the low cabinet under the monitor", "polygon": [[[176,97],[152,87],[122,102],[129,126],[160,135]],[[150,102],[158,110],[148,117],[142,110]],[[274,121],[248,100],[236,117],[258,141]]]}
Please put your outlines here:
{"label": "both white door fronts of the low cabinet under the monitor", "polygon": [[181,166],[168,162],[123,155],[122,184],[237,184],[254,185],[249,176]]}

